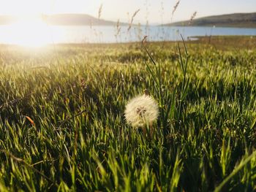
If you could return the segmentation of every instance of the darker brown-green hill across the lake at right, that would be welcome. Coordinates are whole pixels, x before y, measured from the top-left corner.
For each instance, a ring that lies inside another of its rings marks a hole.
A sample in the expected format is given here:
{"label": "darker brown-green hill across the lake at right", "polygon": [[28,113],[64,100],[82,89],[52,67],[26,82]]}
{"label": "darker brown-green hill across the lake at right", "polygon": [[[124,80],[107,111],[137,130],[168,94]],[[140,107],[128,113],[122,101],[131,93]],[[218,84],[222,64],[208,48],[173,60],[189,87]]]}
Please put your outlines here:
{"label": "darker brown-green hill across the lake at right", "polygon": [[217,26],[256,28],[256,12],[214,15],[192,20],[192,23],[190,23],[189,20],[184,20],[176,23],[168,23],[165,26]]}

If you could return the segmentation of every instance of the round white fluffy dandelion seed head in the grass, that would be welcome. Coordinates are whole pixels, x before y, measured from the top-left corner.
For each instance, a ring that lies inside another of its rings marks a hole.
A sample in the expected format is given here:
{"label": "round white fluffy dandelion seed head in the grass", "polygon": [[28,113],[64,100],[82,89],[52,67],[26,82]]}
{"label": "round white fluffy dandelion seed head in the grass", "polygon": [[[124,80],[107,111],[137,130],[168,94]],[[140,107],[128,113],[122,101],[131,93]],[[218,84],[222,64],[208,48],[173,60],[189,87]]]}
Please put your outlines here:
{"label": "round white fluffy dandelion seed head in the grass", "polygon": [[151,125],[159,115],[157,101],[151,96],[136,96],[131,99],[126,106],[124,116],[127,123],[133,127]]}

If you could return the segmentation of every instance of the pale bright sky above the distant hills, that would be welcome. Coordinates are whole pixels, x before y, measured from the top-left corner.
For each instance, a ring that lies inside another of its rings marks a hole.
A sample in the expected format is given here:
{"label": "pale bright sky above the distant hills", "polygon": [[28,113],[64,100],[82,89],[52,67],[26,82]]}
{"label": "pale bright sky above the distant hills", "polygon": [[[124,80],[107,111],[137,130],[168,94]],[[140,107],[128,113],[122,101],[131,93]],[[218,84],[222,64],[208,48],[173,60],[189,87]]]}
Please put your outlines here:
{"label": "pale bright sky above the distant hills", "polygon": [[[85,13],[101,18],[128,22],[140,9],[134,23],[170,23],[171,12],[177,0],[0,0],[0,15],[42,15],[58,13]],[[256,12],[256,0],[181,0],[173,15],[173,22],[208,15],[234,12]]]}

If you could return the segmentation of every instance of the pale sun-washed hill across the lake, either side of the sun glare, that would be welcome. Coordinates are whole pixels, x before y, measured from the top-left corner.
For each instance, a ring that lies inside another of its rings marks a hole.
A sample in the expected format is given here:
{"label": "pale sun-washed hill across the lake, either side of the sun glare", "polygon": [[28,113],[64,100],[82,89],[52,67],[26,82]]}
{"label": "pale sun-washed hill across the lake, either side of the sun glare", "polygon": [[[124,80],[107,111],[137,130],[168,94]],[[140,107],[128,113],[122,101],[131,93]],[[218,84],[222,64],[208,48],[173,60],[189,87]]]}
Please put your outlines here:
{"label": "pale sun-washed hill across the lake, either side of the sun glare", "polygon": [[[0,16],[0,25],[7,25],[18,20],[18,17],[7,15]],[[42,15],[42,19],[50,25],[56,26],[116,26],[117,22],[94,18],[86,14],[59,14],[59,15]],[[119,23],[127,25],[127,23]]]}

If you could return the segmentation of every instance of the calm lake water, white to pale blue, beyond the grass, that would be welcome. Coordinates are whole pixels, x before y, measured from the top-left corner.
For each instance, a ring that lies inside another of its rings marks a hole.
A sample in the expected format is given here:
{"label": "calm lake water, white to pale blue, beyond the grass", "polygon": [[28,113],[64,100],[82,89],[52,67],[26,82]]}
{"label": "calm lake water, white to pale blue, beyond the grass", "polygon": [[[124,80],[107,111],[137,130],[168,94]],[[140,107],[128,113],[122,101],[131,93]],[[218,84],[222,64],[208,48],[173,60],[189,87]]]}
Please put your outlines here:
{"label": "calm lake water, white to pale blue, beyond the grass", "polygon": [[40,43],[108,43],[138,42],[145,35],[148,41],[168,41],[195,36],[256,36],[255,28],[167,27],[167,26],[0,26],[1,44],[40,45]]}

